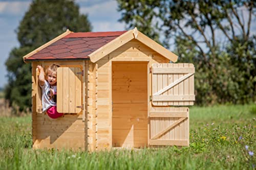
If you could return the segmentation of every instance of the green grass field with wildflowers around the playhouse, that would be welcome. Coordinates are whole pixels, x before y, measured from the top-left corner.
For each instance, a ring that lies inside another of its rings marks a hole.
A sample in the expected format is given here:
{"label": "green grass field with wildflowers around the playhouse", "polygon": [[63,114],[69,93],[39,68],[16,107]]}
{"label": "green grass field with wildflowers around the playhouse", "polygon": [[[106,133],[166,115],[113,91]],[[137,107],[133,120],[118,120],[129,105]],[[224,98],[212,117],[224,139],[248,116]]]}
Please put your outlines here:
{"label": "green grass field with wildflowers around the playhouse", "polygon": [[94,153],[32,150],[31,117],[2,116],[0,169],[255,169],[255,107],[190,107],[189,147]]}

